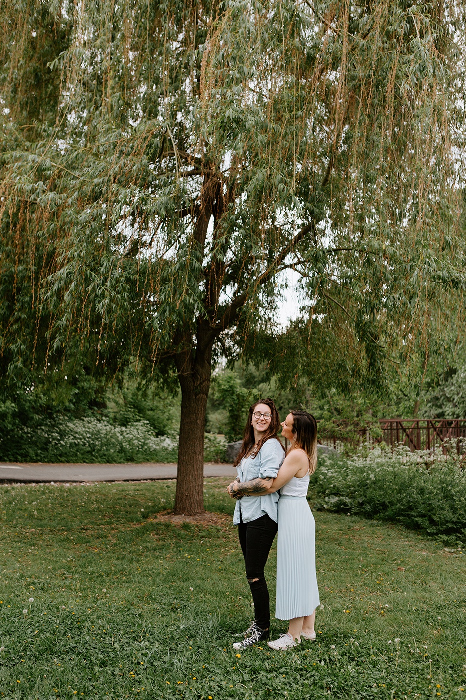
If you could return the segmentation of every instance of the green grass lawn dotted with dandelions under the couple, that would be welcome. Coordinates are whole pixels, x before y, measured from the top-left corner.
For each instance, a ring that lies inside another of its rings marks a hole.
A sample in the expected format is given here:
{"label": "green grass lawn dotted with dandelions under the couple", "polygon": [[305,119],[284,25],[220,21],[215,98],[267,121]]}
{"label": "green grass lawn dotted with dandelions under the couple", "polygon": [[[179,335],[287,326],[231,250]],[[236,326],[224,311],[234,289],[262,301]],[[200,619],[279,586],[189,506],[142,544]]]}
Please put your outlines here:
{"label": "green grass lawn dotted with dandelions under the couple", "polygon": [[236,654],[251,607],[224,486],[206,479],[204,525],[157,519],[174,482],[0,486],[0,696],[466,699],[465,557],[355,517],[315,513],[317,642]]}

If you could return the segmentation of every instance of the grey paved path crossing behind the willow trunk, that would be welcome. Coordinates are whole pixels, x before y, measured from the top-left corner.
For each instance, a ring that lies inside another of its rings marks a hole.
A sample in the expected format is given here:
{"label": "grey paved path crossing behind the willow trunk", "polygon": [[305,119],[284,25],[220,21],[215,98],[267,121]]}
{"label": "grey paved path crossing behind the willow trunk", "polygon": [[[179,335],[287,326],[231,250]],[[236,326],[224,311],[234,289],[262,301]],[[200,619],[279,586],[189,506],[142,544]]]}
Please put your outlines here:
{"label": "grey paved path crossing behind the willow trunk", "polygon": [[[204,477],[236,477],[231,464],[204,464]],[[176,479],[176,464],[20,464],[0,463],[0,483],[73,483]]]}

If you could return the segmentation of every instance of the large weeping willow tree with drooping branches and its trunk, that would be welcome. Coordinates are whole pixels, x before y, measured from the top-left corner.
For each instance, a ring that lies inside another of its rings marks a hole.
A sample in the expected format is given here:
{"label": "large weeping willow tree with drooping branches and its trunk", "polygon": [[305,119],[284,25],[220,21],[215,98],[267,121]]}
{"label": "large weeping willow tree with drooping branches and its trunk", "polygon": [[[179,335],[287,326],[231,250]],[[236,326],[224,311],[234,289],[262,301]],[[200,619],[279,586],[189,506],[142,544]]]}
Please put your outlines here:
{"label": "large weeping willow tree with drooping branches and its trunk", "polygon": [[174,372],[188,514],[218,353],[375,380],[421,352],[461,306],[464,10],[1,0],[4,386]]}

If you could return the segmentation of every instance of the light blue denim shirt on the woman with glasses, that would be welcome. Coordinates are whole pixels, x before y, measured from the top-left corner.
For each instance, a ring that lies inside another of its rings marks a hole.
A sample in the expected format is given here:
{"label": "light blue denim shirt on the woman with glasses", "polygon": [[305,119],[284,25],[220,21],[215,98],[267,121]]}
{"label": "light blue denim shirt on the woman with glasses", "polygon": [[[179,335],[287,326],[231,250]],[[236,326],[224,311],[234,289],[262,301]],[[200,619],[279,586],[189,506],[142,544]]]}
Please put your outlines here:
{"label": "light blue denim shirt on the woman with glasses", "polygon": [[[236,467],[241,482],[251,479],[275,479],[278,469],[285,458],[285,451],[278,440],[271,437],[264,442],[255,457],[243,457]],[[268,496],[243,496],[236,501],[233,514],[233,524],[239,525],[239,514],[244,523],[249,523],[267,514],[274,522],[278,522],[278,493]]]}

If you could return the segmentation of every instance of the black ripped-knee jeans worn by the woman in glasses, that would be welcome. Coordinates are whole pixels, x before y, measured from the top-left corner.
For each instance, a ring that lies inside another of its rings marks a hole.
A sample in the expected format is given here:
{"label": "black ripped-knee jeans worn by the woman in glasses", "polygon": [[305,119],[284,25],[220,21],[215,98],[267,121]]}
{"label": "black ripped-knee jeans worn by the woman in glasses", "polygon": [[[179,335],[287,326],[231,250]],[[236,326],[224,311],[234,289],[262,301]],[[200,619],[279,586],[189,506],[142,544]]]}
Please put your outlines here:
{"label": "black ripped-knee jeans worn by the woman in glasses", "polygon": [[[269,629],[270,626],[269,591],[264,578],[264,566],[277,529],[278,525],[268,515],[262,515],[249,523],[244,523],[240,516],[239,544],[253,596],[254,618],[260,629]],[[255,578],[257,581],[253,581]]]}

